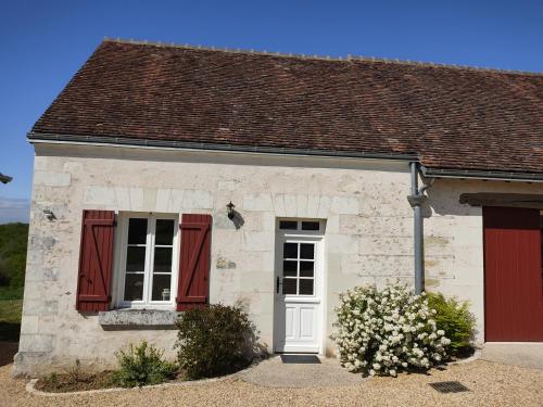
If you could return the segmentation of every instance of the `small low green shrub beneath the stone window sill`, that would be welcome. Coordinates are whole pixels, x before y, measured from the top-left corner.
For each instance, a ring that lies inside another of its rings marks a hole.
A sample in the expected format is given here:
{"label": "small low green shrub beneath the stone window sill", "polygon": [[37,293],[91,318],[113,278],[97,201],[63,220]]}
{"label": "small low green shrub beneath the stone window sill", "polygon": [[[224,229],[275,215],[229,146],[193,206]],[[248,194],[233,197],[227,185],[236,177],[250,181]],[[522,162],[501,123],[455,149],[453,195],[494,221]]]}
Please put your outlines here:
{"label": "small low green shrub beneath the stone window sill", "polygon": [[113,373],[114,384],[123,387],[159,384],[174,379],[178,367],[163,359],[164,352],[146,341],[138,346],[130,344],[127,351],[118,351],[115,356],[119,368]]}

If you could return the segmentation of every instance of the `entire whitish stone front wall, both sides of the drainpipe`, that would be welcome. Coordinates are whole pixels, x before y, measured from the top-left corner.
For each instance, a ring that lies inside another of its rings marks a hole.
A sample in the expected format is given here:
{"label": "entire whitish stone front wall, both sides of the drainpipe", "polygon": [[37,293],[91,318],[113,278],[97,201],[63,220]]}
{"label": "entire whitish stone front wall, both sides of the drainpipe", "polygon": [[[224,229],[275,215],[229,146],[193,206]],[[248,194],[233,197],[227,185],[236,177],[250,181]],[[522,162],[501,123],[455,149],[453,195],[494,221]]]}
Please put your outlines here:
{"label": "entire whitish stone front wall, both sides of the drainpipe", "polygon": [[[340,292],[395,278],[413,284],[409,182],[407,162],[37,143],[15,372],[39,374],[76,359],[90,369],[111,366],[117,348],[140,340],[174,354],[174,330],[105,331],[97,316],[75,309],[84,209],[211,214],[210,300],[243,303],[270,351],[277,220],[323,220],[318,343],[320,353],[333,355],[329,335]],[[424,209],[427,289],[468,300],[480,342],[481,208],[458,198],[490,191],[542,193],[543,185],[437,180]],[[230,201],[243,217],[239,229],[226,216]]]}

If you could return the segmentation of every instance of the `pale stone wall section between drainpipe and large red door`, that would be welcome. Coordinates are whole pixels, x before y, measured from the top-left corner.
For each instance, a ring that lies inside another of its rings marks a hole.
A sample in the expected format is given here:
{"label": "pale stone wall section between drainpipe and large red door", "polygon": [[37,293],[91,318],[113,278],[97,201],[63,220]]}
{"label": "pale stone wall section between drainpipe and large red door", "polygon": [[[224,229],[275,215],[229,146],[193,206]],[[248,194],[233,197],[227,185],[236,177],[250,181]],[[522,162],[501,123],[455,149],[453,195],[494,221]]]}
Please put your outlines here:
{"label": "pale stone wall section between drainpipe and large red door", "polygon": [[482,208],[458,202],[462,193],[543,193],[542,183],[437,180],[425,214],[426,288],[470,303],[477,342],[484,342],[484,252]]}

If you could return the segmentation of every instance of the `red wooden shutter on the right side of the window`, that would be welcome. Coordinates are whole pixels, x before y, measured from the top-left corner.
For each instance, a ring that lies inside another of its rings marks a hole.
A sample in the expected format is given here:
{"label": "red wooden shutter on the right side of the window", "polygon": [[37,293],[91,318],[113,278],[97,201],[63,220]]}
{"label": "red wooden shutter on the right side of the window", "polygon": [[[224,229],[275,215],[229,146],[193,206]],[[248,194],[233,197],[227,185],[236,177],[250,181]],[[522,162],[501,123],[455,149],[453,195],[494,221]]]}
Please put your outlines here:
{"label": "red wooden shutter on the right side of the window", "polygon": [[211,215],[184,214],[177,310],[201,307],[210,296]]}

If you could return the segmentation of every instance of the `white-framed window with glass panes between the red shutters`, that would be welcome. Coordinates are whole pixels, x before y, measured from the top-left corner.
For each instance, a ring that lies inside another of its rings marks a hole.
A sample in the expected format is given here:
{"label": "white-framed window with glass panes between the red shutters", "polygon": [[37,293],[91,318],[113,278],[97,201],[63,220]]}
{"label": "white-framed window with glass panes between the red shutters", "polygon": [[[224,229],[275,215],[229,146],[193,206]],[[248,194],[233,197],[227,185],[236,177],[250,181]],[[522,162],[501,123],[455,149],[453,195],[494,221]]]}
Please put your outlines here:
{"label": "white-framed window with glass panes between the red shutters", "polygon": [[119,218],[117,305],[172,308],[177,294],[178,216],[125,214]]}

